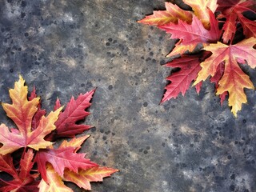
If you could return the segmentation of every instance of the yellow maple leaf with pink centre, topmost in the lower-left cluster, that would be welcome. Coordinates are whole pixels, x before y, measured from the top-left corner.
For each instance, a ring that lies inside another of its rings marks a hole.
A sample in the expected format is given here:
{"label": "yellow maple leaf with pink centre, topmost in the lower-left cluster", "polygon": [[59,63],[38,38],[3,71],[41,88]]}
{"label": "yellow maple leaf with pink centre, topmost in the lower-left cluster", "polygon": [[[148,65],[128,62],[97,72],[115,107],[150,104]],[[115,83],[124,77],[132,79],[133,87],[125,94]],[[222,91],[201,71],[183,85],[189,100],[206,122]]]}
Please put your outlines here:
{"label": "yellow maple leaf with pink centre, topmost in the lower-left cluster", "polygon": [[14,89],[10,90],[10,98],[13,104],[2,103],[3,109],[6,111],[18,127],[18,130],[9,130],[5,124],[0,125],[0,154],[12,153],[22,147],[29,146],[34,150],[44,149],[50,146],[52,142],[44,140],[47,134],[55,129],[54,122],[58,119],[58,114],[62,110],[50,112],[47,117],[42,116],[38,127],[31,130],[31,122],[34,114],[37,112],[39,98],[27,100],[27,86],[22,76],[19,81],[15,82]]}

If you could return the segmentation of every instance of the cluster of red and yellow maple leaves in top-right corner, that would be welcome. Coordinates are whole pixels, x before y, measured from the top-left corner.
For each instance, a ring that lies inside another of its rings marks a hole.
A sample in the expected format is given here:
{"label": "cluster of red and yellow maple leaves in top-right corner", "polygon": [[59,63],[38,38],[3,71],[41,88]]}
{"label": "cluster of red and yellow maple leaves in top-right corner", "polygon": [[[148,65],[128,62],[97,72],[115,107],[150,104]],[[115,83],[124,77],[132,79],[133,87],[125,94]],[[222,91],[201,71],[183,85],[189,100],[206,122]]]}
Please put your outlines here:
{"label": "cluster of red and yellow maple leaves in top-right corner", "polygon": [[[210,77],[221,103],[228,97],[234,116],[246,103],[244,88],[254,89],[240,65],[256,66],[256,22],[254,0],[183,0],[193,11],[166,2],[166,10],[154,11],[141,23],[158,26],[177,39],[166,66],[179,68],[167,80],[162,102],[184,95],[190,84],[200,91]],[[252,15],[254,18],[246,18]],[[241,38],[242,36],[242,38]],[[201,46],[199,50],[196,47]],[[177,58],[178,55],[178,58]]]}

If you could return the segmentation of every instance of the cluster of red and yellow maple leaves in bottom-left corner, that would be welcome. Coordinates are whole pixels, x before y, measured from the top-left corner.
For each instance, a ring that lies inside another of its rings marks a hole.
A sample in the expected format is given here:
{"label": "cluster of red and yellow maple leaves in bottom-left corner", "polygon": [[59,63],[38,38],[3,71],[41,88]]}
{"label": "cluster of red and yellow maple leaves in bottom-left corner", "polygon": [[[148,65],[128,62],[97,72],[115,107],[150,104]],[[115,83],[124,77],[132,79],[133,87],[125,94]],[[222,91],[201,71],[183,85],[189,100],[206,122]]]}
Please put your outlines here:
{"label": "cluster of red and yellow maple leaves in bottom-left corner", "polygon": [[[59,100],[54,111],[46,115],[42,110],[40,98],[35,89],[28,95],[28,88],[20,76],[10,89],[12,104],[2,103],[7,116],[13,120],[18,129],[0,125],[0,191],[73,191],[64,184],[74,182],[77,186],[90,190],[90,182],[102,181],[118,170],[98,166],[79,154],[78,150],[89,135],[76,138],[90,126],[78,125],[76,122],[88,114],[90,99],[94,90],[72,97],[62,111]],[[54,147],[58,138],[64,140]],[[12,178],[6,177],[10,174]]]}

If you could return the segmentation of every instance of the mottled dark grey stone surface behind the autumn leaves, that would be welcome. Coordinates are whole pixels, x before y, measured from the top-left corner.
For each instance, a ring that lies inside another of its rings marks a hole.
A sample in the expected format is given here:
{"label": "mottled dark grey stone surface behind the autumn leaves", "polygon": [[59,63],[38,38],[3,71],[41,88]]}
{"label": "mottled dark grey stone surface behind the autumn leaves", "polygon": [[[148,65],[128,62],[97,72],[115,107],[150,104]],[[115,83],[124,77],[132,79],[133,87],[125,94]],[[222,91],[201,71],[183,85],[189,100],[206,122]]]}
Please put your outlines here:
{"label": "mottled dark grey stone surface behind the autumn leaves", "polygon": [[[163,8],[163,0],[1,0],[1,102],[18,74],[48,110],[57,97],[66,103],[98,87],[82,152],[120,172],[93,191],[256,191],[254,90],[238,118],[209,81],[199,95],[191,88],[158,105],[174,42],[136,21]],[[247,74],[256,85],[255,70]]]}

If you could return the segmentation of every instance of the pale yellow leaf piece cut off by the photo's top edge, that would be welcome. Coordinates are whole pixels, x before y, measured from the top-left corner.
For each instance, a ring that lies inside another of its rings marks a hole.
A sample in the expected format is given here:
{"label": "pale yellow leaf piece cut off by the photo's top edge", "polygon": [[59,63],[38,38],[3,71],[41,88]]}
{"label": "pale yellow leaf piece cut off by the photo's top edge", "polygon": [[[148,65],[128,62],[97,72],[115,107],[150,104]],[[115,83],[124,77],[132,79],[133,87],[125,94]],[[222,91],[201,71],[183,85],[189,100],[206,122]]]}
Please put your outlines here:
{"label": "pale yellow leaf piece cut off by the photo's top edge", "polygon": [[210,30],[211,16],[208,14],[208,9],[214,13],[218,7],[217,0],[183,0],[183,2],[192,7],[194,14],[202,22],[202,25],[206,30]]}

